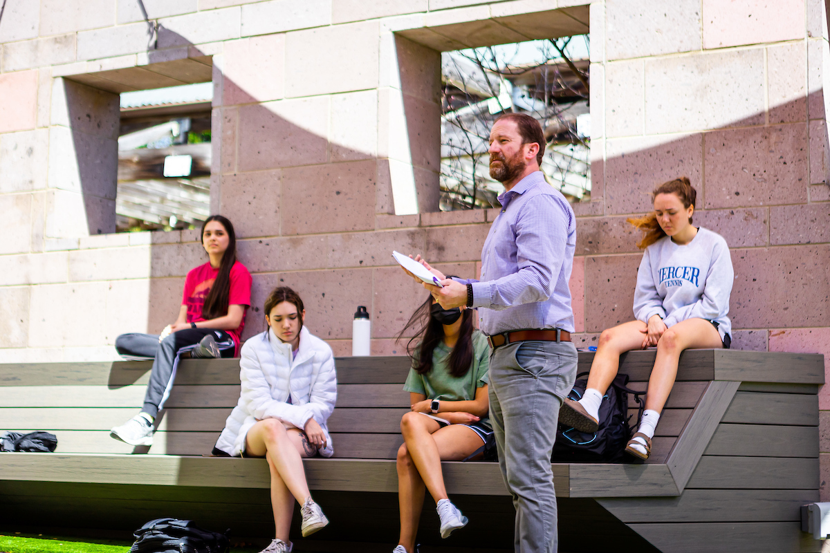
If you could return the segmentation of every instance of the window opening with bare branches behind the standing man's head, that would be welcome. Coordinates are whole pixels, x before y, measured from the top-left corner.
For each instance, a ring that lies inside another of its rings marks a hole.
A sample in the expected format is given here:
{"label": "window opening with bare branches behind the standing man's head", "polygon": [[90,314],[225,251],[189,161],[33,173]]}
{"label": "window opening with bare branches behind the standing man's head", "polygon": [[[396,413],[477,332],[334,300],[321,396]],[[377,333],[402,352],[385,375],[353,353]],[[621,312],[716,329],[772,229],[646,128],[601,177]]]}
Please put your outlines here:
{"label": "window opening with bare branches behind the standing man's head", "polygon": [[569,201],[591,196],[588,34],[441,55],[441,211],[499,206],[488,138],[501,114],[539,120],[542,172]]}

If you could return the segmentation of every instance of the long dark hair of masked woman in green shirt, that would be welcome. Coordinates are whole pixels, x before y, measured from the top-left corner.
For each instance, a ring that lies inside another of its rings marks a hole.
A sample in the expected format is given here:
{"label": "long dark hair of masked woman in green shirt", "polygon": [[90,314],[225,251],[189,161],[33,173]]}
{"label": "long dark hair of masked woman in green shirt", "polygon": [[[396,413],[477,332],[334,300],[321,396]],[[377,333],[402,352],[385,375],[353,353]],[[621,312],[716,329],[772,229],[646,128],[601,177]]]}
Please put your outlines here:
{"label": "long dark hair of masked woman in green shirt", "polygon": [[[407,353],[409,357],[417,361],[415,372],[419,375],[425,375],[432,371],[432,350],[444,339],[444,327],[432,318],[430,308],[432,308],[432,296],[427,298],[427,301],[415,310],[413,316],[409,318],[409,322],[398,334],[396,341],[400,342],[404,332],[417,327],[415,336],[409,338],[407,343]],[[447,359],[447,369],[450,375],[456,378],[466,375],[472,366],[472,332],[475,329],[472,326],[472,318],[472,309],[465,309],[461,312],[461,328],[458,331],[458,341],[456,346],[452,348],[449,359]],[[417,359],[415,358],[416,354]]]}

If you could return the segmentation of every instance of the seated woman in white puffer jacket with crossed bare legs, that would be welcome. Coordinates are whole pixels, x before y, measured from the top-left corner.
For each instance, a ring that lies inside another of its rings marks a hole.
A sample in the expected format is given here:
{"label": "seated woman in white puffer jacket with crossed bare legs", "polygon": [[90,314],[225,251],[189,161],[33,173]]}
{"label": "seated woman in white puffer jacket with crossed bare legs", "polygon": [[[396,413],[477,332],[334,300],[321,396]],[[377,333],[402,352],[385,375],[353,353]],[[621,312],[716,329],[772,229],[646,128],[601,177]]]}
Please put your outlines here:
{"label": "seated woman in white puffer jacket with crossed bare legs", "polygon": [[265,314],[268,331],[242,347],[242,395],[213,453],[267,459],[276,539],[262,553],[286,553],[295,499],[303,537],[329,523],[311,499],[302,458],[334,454],[326,420],[337,399],[337,376],[329,345],[303,327],[305,309],[294,290],[271,292]]}

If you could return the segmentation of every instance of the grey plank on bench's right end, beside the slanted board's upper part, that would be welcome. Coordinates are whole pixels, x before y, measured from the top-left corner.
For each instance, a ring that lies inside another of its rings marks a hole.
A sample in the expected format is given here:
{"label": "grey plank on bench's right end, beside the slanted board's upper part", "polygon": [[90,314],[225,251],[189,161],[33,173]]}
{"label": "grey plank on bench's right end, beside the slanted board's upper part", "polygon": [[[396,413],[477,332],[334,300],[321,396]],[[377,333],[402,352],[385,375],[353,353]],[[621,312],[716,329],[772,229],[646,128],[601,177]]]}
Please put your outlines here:
{"label": "grey plank on bench's right end, beside the slanted board's upper part", "polygon": [[739,391],[722,422],[818,426],[818,395]]}

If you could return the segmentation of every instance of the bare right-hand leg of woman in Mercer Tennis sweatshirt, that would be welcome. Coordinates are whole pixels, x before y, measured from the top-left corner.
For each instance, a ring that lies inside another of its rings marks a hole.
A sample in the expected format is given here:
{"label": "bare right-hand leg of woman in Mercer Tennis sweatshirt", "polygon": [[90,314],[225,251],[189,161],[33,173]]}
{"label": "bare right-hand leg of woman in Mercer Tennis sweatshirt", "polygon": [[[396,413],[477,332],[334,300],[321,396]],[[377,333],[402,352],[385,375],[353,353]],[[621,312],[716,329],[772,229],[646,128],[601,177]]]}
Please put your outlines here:
{"label": "bare right-hand leg of woman in Mercer Tennis sweatshirt", "polygon": [[677,363],[686,349],[723,347],[715,326],[702,318],[690,318],[671,326],[657,342],[657,360],[648,379],[646,409],[661,413],[674,386]]}

